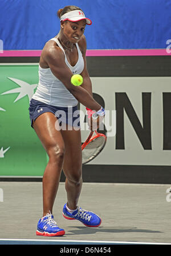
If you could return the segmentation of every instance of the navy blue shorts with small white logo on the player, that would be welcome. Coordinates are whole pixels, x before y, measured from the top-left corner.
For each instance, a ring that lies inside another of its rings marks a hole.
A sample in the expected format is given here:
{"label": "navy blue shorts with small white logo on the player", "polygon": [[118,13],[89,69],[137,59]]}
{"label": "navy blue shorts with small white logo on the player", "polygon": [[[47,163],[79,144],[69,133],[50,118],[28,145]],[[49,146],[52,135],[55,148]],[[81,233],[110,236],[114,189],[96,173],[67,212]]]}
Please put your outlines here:
{"label": "navy blue shorts with small white logo on the player", "polygon": [[28,108],[30,114],[30,121],[32,127],[32,121],[35,121],[39,115],[51,112],[58,118],[59,125],[61,126],[63,123],[67,123],[72,127],[80,128],[80,115],[78,107],[56,107],[52,105],[48,105],[46,103],[36,101],[36,99],[31,99],[30,107]]}

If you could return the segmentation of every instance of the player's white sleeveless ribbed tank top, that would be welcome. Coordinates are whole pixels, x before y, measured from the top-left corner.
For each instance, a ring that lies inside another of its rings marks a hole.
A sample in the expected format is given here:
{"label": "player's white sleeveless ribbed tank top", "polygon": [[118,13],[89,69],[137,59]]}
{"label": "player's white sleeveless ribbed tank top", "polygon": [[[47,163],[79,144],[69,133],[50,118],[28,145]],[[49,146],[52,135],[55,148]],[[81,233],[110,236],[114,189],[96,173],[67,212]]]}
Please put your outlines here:
{"label": "player's white sleeveless ribbed tank top", "polygon": [[[52,38],[50,40],[55,41],[64,52],[64,49],[60,45],[58,39]],[[73,74],[80,74],[84,69],[84,59],[78,43],[76,43],[76,48],[78,50],[78,62],[76,65],[70,65],[64,52],[65,62]],[[56,78],[54,74],[52,74],[51,69],[42,69],[40,65],[39,83],[32,99],[58,107],[76,106],[78,104],[77,99],[70,93],[70,91],[67,90],[66,86],[64,86],[63,83]]]}

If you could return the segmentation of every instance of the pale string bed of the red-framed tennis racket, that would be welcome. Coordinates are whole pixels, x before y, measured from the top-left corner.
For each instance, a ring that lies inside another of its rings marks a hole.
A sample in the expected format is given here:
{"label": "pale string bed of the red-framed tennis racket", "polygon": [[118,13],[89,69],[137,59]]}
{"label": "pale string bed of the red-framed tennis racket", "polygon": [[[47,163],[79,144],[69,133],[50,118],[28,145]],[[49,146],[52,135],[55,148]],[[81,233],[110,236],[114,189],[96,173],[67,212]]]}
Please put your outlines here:
{"label": "pale string bed of the red-framed tennis racket", "polygon": [[105,137],[100,136],[93,139],[82,151],[83,164],[89,162],[96,157],[105,145]]}

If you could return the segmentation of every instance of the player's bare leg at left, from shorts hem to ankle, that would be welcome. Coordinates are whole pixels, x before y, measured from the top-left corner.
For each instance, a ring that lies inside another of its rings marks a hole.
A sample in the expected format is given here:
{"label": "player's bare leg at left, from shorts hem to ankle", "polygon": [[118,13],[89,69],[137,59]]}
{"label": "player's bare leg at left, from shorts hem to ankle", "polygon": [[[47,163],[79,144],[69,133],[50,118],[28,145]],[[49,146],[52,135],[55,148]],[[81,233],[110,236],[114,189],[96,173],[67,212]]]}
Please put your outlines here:
{"label": "player's bare leg at left, from shorts hem to ankle", "polygon": [[43,216],[52,213],[64,160],[64,142],[55,122],[58,120],[52,113],[44,113],[34,122],[34,130],[49,157],[43,174]]}

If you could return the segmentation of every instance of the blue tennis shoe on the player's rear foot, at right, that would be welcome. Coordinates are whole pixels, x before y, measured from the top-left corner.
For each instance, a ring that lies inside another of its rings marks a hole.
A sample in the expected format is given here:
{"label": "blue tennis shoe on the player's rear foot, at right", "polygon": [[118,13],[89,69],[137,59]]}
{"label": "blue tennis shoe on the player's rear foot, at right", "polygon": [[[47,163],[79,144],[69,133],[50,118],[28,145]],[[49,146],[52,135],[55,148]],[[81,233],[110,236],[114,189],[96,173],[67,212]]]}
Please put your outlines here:
{"label": "blue tennis shoe on the player's rear foot, at right", "polygon": [[87,227],[98,227],[101,224],[101,219],[92,211],[83,210],[81,207],[77,207],[77,209],[71,214],[68,212],[67,204],[63,207],[63,217],[66,219],[77,219],[82,222]]}

